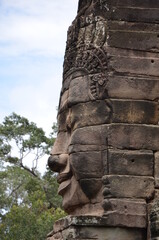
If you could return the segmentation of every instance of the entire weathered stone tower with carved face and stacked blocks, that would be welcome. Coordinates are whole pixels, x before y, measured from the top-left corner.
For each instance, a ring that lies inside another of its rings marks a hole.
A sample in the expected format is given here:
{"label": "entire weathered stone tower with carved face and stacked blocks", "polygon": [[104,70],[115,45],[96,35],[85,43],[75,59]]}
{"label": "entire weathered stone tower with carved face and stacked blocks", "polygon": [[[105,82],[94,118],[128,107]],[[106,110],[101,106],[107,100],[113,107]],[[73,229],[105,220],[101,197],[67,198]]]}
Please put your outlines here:
{"label": "entire weathered stone tower with carved face and stacked blocks", "polygon": [[79,0],[48,161],[69,216],[48,239],[158,239],[158,123],[159,1]]}

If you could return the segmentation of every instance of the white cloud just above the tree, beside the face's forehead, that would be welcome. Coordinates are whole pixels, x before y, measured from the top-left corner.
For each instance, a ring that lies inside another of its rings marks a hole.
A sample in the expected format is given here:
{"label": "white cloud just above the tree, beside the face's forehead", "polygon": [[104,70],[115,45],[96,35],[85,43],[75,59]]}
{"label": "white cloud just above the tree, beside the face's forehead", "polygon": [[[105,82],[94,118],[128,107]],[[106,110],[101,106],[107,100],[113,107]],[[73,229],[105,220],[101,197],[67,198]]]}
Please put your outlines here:
{"label": "white cloud just above the tree, beside the face's forehead", "polygon": [[[51,131],[52,123],[56,121],[56,107],[59,94],[55,94],[48,86],[53,80],[46,80],[39,85],[22,84],[10,92],[9,100],[15,111],[43,127],[47,133]],[[56,91],[59,93],[59,87]]]}

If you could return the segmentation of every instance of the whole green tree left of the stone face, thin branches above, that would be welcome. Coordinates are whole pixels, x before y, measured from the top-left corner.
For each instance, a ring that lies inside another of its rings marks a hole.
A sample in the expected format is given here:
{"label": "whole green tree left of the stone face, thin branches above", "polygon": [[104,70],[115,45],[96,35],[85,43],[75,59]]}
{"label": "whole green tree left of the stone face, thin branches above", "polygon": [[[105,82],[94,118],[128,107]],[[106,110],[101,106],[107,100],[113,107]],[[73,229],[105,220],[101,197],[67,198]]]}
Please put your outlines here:
{"label": "whole green tree left of the stone face, thin branches above", "polygon": [[[56,175],[37,167],[55,140],[35,123],[17,115],[0,124],[0,239],[43,240],[55,220],[65,215],[57,195]],[[31,163],[31,164],[30,164]]]}

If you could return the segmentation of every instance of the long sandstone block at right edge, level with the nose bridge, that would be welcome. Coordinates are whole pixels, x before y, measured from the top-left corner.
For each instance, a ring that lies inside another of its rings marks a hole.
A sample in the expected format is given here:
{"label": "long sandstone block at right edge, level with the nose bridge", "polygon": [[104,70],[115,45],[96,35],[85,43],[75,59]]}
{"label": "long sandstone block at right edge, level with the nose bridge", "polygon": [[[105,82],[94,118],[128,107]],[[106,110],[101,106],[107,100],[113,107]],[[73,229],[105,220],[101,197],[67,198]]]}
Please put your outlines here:
{"label": "long sandstone block at right edge, level with the nose bridge", "polygon": [[112,124],[108,144],[120,149],[159,150],[159,126]]}

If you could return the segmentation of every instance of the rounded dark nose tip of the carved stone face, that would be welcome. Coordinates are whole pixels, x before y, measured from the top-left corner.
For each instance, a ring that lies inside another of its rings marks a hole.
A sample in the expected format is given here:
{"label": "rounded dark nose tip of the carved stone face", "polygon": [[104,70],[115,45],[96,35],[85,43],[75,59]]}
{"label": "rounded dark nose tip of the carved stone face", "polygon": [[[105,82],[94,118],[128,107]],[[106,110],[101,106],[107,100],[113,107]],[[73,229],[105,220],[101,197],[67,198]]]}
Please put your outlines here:
{"label": "rounded dark nose tip of the carved stone face", "polygon": [[61,172],[66,167],[67,156],[66,154],[61,155],[50,155],[48,158],[48,166],[54,172]]}

